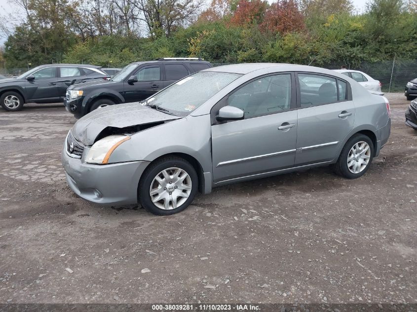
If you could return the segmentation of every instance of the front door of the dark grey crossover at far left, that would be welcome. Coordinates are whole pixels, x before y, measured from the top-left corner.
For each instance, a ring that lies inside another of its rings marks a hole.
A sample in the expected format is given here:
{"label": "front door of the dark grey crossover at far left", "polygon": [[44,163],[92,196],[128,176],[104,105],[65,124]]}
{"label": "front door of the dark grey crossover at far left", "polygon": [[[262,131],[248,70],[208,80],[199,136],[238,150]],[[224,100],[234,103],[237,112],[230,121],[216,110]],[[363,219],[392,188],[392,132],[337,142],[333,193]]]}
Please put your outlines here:
{"label": "front door of the dark grey crossover at far left", "polygon": [[47,67],[32,74],[34,80],[26,80],[27,102],[54,103],[60,101],[57,68]]}

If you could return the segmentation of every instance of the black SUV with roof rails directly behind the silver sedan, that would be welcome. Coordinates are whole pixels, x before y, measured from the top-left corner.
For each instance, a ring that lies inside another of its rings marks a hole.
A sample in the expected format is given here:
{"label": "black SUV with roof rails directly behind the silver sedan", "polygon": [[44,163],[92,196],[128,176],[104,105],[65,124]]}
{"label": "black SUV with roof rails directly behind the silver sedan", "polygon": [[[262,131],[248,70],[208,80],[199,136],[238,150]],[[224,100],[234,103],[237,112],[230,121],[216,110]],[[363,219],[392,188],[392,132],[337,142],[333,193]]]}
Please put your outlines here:
{"label": "black SUV with roof rails directly behind the silver sedan", "polygon": [[145,100],[177,80],[211,67],[209,62],[197,58],[131,63],[109,81],[69,87],[65,106],[80,118],[98,107]]}

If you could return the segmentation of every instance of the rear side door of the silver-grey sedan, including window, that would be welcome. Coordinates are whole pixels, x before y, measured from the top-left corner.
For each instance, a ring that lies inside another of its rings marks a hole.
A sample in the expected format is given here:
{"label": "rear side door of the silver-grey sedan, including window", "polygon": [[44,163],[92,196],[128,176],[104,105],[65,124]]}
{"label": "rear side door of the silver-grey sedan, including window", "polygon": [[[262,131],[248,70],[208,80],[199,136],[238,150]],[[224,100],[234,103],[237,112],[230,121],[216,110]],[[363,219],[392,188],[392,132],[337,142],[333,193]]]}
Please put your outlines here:
{"label": "rear side door of the silver-grey sedan, including window", "polygon": [[345,81],[299,73],[299,109],[295,166],[331,161],[353,129],[355,106]]}

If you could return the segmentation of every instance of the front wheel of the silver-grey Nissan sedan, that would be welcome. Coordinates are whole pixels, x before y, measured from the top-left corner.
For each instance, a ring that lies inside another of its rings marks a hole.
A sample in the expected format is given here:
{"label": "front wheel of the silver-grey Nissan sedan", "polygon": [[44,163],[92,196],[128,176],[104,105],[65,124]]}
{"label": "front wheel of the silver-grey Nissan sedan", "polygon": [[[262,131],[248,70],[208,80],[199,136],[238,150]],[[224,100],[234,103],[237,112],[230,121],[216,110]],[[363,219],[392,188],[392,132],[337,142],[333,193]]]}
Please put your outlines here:
{"label": "front wheel of the silver-grey Nissan sedan", "polygon": [[152,163],[139,183],[139,201],[156,215],[170,215],[186,209],[198,189],[198,176],[191,164],[175,156]]}

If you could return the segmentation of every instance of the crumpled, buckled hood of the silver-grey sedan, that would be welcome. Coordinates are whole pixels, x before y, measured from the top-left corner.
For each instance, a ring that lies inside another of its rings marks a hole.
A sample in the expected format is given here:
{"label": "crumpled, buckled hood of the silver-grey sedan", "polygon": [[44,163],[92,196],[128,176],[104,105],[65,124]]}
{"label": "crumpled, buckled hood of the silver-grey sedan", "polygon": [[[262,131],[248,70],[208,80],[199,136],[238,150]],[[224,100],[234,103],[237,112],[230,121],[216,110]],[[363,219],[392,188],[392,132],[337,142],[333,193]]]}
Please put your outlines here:
{"label": "crumpled, buckled hood of the silver-grey sedan", "polygon": [[71,133],[84,145],[92,145],[107,127],[125,128],[182,117],[165,114],[142,104],[127,103],[97,108],[75,123]]}

